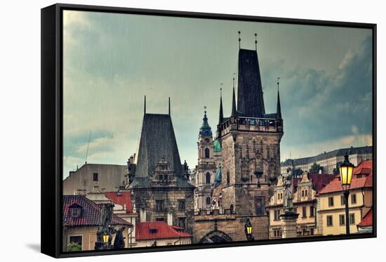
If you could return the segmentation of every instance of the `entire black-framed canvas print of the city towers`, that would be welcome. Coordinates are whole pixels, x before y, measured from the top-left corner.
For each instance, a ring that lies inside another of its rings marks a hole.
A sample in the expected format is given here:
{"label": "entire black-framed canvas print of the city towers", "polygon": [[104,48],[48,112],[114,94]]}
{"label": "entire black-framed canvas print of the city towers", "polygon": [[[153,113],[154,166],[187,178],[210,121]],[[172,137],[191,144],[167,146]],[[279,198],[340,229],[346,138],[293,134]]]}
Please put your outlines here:
{"label": "entire black-framed canvas print of the city towers", "polygon": [[42,252],[375,237],[375,30],[43,8]]}

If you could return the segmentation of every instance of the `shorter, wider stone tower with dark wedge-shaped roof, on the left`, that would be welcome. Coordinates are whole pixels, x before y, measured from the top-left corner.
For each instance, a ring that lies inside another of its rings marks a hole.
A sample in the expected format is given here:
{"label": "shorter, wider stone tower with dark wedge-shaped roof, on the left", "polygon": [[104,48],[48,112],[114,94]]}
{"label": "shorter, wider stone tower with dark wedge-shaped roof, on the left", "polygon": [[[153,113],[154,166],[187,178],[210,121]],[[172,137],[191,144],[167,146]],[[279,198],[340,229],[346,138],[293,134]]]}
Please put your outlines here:
{"label": "shorter, wider stone tower with dark wedge-shaped roof, on the left", "polygon": [[145,114],[135,164],[130,164],[133,202],[138,222],[164,221],[184,228],[194,224],[194,185],[181,164],[170,114]]}

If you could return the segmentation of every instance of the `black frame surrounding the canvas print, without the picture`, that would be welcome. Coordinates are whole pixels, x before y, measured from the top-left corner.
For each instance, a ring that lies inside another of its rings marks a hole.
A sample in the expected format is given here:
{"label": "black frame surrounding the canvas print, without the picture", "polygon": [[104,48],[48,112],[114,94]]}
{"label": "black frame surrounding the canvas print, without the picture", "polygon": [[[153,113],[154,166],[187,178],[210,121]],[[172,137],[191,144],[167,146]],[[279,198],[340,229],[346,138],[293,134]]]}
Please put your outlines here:
{"label": "black frame surrounding the canvas print, without the picture", "polygon": [[74,256],[96,256],[107,254],[131,254],[153,251],[174,251],[185,249],[207,249],[218,247],[239,247],[262,244],[294,242],[318,242],[328,240],[349,240],[376,237],[377,194],[373,190],[373,232],[361,235],[333,235],[324,237],[302,237],[257,242],[232,242],[221,244],[189,244],[172,247],[146,247],[110,251],[79,251],[63,253],[62,247],[62,11],[98,11],[141,15],[164,15],[184,18],[210,18],[217,20],[239,20],[252,22],[273,22],[299,25],[366,28],[373,32],[373,188],[377,188],[376,172],[376,24],[358,22],[336,22],[323,20],[302,20],[290,18],[268,18],[248,15],[225,15],[218,13],[192,13],[162,11],[111,6],[84,6],[55,4],[41,9],[41,253],[55,258]]}

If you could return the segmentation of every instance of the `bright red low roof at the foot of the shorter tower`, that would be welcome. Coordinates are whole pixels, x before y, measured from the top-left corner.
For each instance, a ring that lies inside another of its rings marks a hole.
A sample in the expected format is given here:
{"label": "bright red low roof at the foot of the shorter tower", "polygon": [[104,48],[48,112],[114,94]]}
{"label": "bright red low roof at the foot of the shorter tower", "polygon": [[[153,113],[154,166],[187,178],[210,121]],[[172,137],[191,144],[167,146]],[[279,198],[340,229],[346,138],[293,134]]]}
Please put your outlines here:
{"label": "bright red low roof at the foot of the shorter tower", "polygon": [[[140,222],[135,224],[136,240],[159,240],[165,238],[192,237],[182,228],[168,225],[162,221]],[[155,232],[150,232],[154,230]]]}

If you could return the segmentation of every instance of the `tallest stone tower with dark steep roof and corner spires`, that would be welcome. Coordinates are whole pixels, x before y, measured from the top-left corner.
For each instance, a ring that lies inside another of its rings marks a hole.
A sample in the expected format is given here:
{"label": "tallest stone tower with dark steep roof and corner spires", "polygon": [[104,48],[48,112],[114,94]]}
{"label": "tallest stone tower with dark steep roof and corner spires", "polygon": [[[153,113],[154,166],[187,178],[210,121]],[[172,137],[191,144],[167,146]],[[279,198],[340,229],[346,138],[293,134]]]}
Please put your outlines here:
{"label": "tallest stone tower with dark steep roof and corner spires", "polygon": [[[235,79],[233,82],[235,84]],[[232,207],[237,216],[258,223],[253,225],[258,230],[267,231],[264,224],[268,220],[262,216],[266,216],[265,207],[280,172],[283,120],[279,82],[277,112],[265,113],[257,46],[255,50],[239,48],[237,100],[234,84],[231,115],[223,117],[220,98],[217,126],[217,140],[224,159],[222,204],[225,209]]]}

